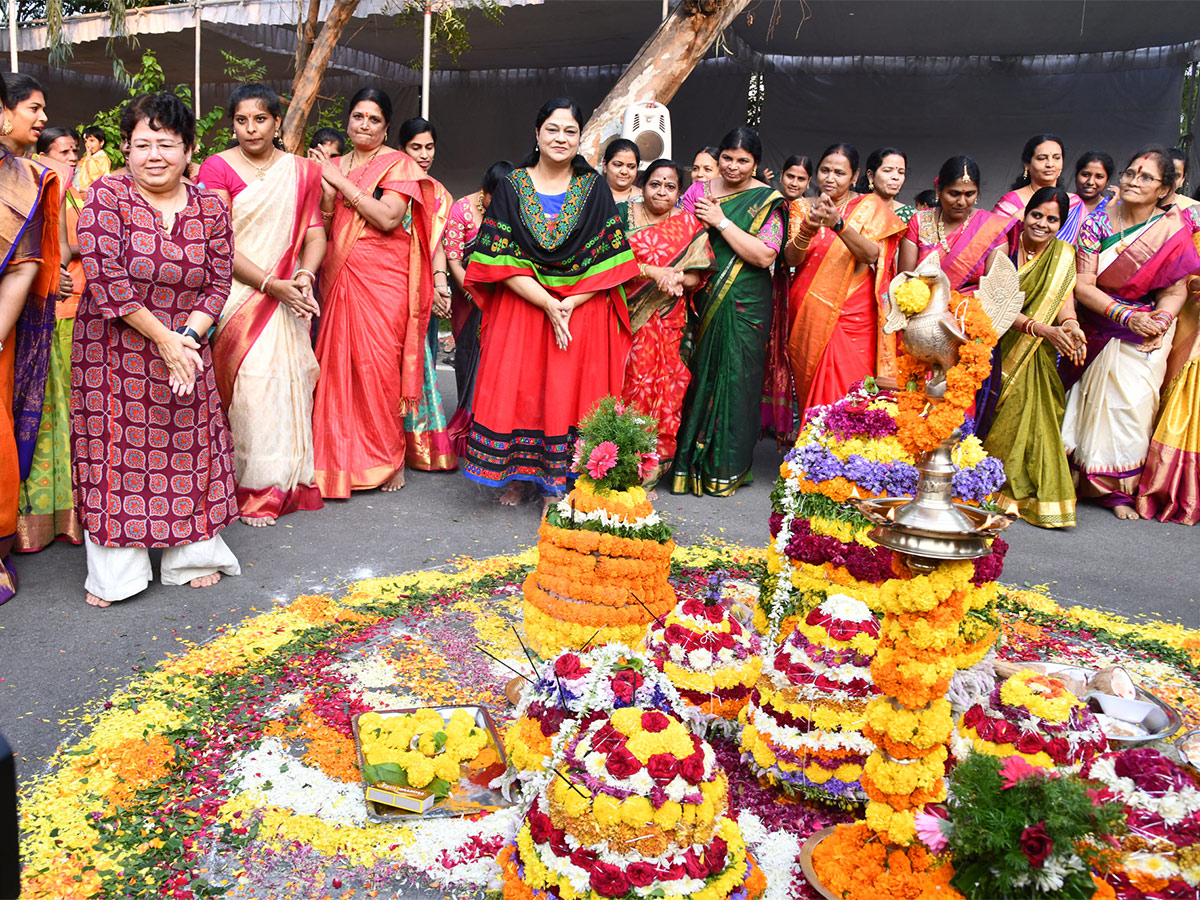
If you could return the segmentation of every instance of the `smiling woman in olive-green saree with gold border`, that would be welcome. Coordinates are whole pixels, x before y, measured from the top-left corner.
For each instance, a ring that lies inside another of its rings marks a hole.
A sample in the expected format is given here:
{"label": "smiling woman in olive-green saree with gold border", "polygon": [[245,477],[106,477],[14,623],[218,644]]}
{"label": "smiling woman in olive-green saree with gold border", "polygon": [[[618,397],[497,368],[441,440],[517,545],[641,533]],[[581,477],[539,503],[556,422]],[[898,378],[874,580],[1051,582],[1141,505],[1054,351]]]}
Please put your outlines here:
{"label": "smiling woman in olive-green saree with gold border", "polygon": [[1061,187],[1038,188],[1025,208],[1013,252],[1025,305],[1000,342],[1000,392],[984,440],[1008,475],[1001,505],[1042,528],[1075,524],[1075,487],[1062,446],[1067,395],[1056,368],[1058,353],[1080,364],[1087,354],[1075,318],[1075,251],[1055,238],[1069,208]]}

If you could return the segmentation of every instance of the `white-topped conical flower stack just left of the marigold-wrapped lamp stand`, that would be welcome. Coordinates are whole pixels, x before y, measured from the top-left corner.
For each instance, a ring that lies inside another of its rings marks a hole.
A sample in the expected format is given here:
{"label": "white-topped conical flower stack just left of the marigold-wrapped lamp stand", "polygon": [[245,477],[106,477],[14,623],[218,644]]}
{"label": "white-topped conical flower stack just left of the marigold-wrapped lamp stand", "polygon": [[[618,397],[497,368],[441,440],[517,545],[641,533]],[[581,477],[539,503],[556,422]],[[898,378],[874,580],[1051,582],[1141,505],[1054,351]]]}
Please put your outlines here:
{"label": "white-topped conical flower stack just left of the marigold-wrapped lamp stand", "polygon": [[865,799],[875,745],[862,726],[878,635],[865,604],[832,594],[767,659],[742,730],[742,758],[761,779],[844,805]]}

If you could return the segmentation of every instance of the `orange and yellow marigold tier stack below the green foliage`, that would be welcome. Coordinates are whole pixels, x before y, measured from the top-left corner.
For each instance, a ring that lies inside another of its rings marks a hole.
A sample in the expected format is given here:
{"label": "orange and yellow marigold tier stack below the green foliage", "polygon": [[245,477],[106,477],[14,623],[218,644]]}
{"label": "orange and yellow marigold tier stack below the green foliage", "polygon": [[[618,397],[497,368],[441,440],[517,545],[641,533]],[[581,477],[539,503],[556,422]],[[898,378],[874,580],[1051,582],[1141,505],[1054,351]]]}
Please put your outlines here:
{"label": "orange and yellow marigold tier stack below the green foliage", "polygon": [[643,488],[605,492],[581,476],[538,535],[524,622],[542,658],[589,641],[637,646],[653,618],[674,607],[667,582],[674,541]]}

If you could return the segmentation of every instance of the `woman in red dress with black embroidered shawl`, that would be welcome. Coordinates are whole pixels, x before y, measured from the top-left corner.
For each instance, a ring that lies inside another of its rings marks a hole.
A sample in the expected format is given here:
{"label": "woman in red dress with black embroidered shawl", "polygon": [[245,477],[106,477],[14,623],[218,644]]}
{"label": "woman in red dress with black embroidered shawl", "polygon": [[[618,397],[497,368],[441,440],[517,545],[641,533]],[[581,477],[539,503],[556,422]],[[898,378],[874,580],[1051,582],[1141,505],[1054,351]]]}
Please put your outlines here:
{"label": "woman in red dress with black embroidered shawl", "polygon": [[500,181],[467,265],[484,310],[475,420],[463,472],[523,482],[544,506],[566,491],[576,426],[619,395],[631,336],[620,286],[637,275],[612,192],[577,155],[583,114],[572,100],[538,113],[538,148]]}

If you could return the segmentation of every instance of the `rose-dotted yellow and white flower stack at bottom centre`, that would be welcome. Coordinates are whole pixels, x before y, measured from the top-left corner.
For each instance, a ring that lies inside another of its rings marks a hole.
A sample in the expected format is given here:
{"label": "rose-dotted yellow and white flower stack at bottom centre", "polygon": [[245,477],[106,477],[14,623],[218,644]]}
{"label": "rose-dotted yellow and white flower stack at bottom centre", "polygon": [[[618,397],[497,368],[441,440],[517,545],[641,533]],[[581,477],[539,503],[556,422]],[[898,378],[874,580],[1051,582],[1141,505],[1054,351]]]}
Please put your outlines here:
{"label": "rose-dotted yellow and white flower stack at bottom centre", "polygon": [[713,749],[676,716],[583,726],[499,856],[505,900],[754,900],[766,878],[727,815]]}

